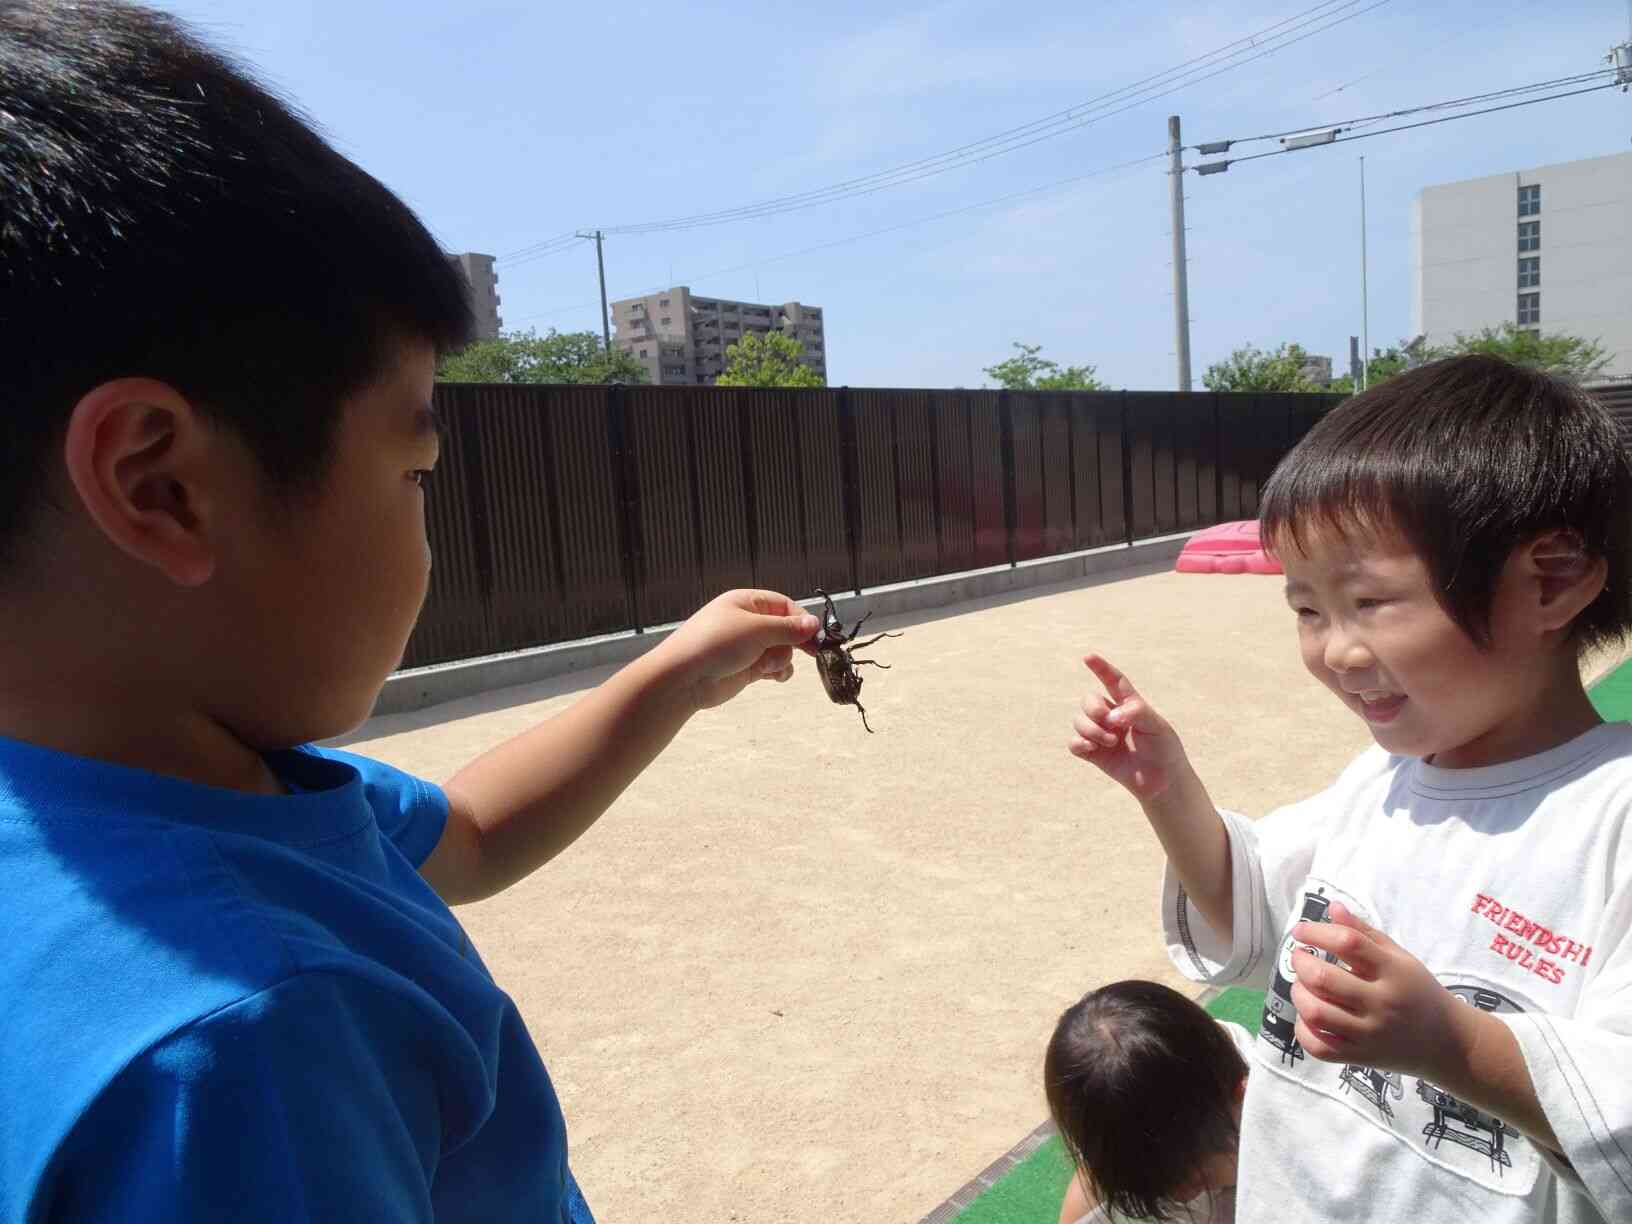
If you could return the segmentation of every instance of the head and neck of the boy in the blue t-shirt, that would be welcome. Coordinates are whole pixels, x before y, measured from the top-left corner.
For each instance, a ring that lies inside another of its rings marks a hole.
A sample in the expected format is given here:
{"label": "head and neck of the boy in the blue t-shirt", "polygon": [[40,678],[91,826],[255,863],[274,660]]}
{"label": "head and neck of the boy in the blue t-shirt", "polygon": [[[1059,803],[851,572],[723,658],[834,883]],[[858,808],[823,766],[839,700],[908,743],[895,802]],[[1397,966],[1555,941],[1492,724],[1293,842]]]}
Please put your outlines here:
{"label": "head and neck of the boy in the blue t-shirt", "polygon": [[413,212],[180,21],[0,0],[0,734],[197,774],[356,725],[468,333]]}

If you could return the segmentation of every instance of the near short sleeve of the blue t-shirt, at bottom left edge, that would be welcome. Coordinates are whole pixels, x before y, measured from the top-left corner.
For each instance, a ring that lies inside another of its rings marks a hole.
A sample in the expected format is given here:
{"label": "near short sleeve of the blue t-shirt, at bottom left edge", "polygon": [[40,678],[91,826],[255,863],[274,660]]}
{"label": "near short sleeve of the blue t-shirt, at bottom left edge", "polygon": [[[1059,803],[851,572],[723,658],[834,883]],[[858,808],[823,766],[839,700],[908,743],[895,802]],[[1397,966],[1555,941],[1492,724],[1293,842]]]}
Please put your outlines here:
{"label": "near short sleeve of the blue t-shirt, at bottom left edge", "polygon": [[[127,1066],[69,1136],[46,1219],[432,1219],[439,1082],[415,1009],[287,979]],[[361,1213],[361,1216],[359,1216]]]}

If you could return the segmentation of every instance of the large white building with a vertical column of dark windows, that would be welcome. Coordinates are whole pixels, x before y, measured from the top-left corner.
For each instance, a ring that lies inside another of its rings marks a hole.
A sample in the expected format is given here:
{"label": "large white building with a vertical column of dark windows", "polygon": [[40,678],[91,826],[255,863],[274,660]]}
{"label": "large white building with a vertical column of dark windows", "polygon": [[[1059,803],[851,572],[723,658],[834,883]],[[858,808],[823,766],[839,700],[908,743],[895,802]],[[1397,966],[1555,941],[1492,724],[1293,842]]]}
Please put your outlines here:
{"label": "large white building with a vertical column of dark windows", "polygon": [[[1541,211],[1518,215],[1518,189]],[[1521,220],[1541,222],[1536,251]],[[1413,331],[1430,343],[1518,322],[1518,259],[1541,258],[1541,330],[1598,339],[1606,374],[1632,374],[1632,153],[1425,188],[1413,217]]]}

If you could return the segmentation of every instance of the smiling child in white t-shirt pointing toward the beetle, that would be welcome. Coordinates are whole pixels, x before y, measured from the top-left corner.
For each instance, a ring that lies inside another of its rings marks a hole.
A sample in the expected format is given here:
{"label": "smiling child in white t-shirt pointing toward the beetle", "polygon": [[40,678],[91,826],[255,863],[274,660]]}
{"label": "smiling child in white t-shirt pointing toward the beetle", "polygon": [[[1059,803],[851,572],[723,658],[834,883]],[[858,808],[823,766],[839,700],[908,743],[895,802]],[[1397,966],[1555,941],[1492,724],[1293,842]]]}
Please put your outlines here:
{"label": "smiling child in white t-shirt pointing toward the beetle", "polygon": [[1495,357],[1324,418],[1260,521],[1377,746],[1255,824],[1087,658],[1071,751],[1167,852],[1173,963],[1268,987],[1242,1221],[1632,1221],[1632,726],[1580,677],[1632,625],[1629,509],[1604,410]]}

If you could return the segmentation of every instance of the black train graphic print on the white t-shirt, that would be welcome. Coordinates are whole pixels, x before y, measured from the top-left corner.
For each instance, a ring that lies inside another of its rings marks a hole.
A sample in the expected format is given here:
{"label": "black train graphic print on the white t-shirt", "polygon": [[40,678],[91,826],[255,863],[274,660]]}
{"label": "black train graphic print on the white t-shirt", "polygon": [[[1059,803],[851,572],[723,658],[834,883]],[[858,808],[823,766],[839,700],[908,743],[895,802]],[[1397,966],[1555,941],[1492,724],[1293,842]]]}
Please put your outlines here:
{"label": "black train graphic print on the white t-shirt", "polygon": [[[1332,899],[1325,886],[1304,893],[1302,909],[1288,925],[1275,963],[1275,978],[1265,992],[1258,1038],[1273,1054],[1265,1061],[1281,1074],[1302,1082],[1361,1116],[1410,1142],[1425,1159],[1454,1169],[1475,1182],[1524,1193],[1539,1172],[1539,1157],[1519,1133],[1500,1118],[1457,1100],[1439,1085],[1379,1071],[1361,1064],[1310,1059],[1297,1041],[1297,1009],[1293,1007],[1293,951],[1302,947],[1330,963],[1337,956],[1299,945],[1291,929],[1297,922],[1330,922]],[[1343,898],[1355,914],[1363,907]],[[1366,917],[1364,920],[1371,920]],[[1506,994],[1480,981],[1448,982],[1446,989],[1482,1012],[1523,1012]]]}

